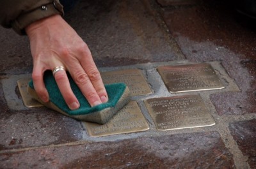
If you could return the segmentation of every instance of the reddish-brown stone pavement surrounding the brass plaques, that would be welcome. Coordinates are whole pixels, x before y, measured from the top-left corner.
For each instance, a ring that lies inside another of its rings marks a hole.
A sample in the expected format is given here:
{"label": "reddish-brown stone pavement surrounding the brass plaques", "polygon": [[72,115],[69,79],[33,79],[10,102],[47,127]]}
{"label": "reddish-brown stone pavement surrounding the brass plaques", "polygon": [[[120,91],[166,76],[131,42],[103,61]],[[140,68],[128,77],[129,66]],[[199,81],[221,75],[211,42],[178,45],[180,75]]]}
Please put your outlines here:
{"label": "reddish-brown stone pavement surrounding the brass plaques", "polygon": [[[80,1],[65,15],[100,71],[141,70],[152,94],[132,96],[149,129],[92,137],[83,122],[26,108],[26,36],[0,28],[0,168],[256,168],[256,24],[232,1]],[[172,94],[157,66],[207,62],[225,89]],[[145,99],[199,94],[216,124],[160,131]]]}

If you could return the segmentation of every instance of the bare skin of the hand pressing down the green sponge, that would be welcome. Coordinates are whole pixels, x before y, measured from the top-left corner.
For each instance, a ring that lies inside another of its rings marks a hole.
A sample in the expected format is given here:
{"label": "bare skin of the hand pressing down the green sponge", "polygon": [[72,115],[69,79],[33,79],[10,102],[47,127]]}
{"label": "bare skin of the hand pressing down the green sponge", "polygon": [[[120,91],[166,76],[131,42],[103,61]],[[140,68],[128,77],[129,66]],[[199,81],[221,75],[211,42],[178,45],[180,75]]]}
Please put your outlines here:
{"label": "bare skin of the hand pressing down the green sponge", "polygon": [[[44,71],[53,70],[56,66],[64,66],[69,71],[92,107],[108,101],[108,94],[88,46],[60,15],[33,22],[25,30],[33,57],[35,91],[42,101],[49,101],[43,80]],[[79,108],[67,73],[58,71],[54,78],[68,107],[71,110]]]}

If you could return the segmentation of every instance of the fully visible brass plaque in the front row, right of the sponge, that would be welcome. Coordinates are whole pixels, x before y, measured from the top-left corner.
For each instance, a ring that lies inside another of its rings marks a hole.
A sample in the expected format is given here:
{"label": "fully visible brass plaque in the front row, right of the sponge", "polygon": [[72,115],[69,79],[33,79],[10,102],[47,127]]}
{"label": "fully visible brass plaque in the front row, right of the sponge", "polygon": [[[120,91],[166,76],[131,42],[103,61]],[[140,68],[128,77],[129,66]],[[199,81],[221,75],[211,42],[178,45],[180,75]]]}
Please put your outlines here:
{"label": "fully visible brass plaque in the front row, right of the sponge", "polygon": [[215,124],[199,95],[153,98],[144,102],[159,130],[198,128]]}

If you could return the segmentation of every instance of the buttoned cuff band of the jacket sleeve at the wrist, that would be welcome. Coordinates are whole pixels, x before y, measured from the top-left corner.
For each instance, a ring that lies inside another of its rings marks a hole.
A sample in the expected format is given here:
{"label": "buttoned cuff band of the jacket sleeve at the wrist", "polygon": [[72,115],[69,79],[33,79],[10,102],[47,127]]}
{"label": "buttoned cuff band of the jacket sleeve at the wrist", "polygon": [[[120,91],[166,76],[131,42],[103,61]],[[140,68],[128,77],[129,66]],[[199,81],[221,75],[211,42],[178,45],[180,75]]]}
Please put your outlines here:
{"label": "buttoned cuff band of the jacket sleeve at the wrist", "polygon": [[58,0],[52,1],[52,3],[42,5],[35,10],[31,10],[28,13],[20,15],[12,22],[12,28],[20,35],[26,34],[25,27],[29,24],[40,20],[42,18],[51,17],[52,15],[64,15],[63,6]]}

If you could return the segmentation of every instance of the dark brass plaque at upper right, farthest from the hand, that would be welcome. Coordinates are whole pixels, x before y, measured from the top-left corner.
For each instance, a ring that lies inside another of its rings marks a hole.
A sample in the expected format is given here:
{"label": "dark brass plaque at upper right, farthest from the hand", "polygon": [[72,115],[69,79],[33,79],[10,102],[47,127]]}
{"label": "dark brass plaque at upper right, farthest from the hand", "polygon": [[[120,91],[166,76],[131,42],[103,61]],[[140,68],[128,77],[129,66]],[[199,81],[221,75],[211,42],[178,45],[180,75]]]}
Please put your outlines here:
{"label": "dark brass plaque at upper right, farthest from the hand", "polygon": [[223,89],[225,87],[211,64],[208,63],[159,66],[157,70],[168,91],[173,93]]}

